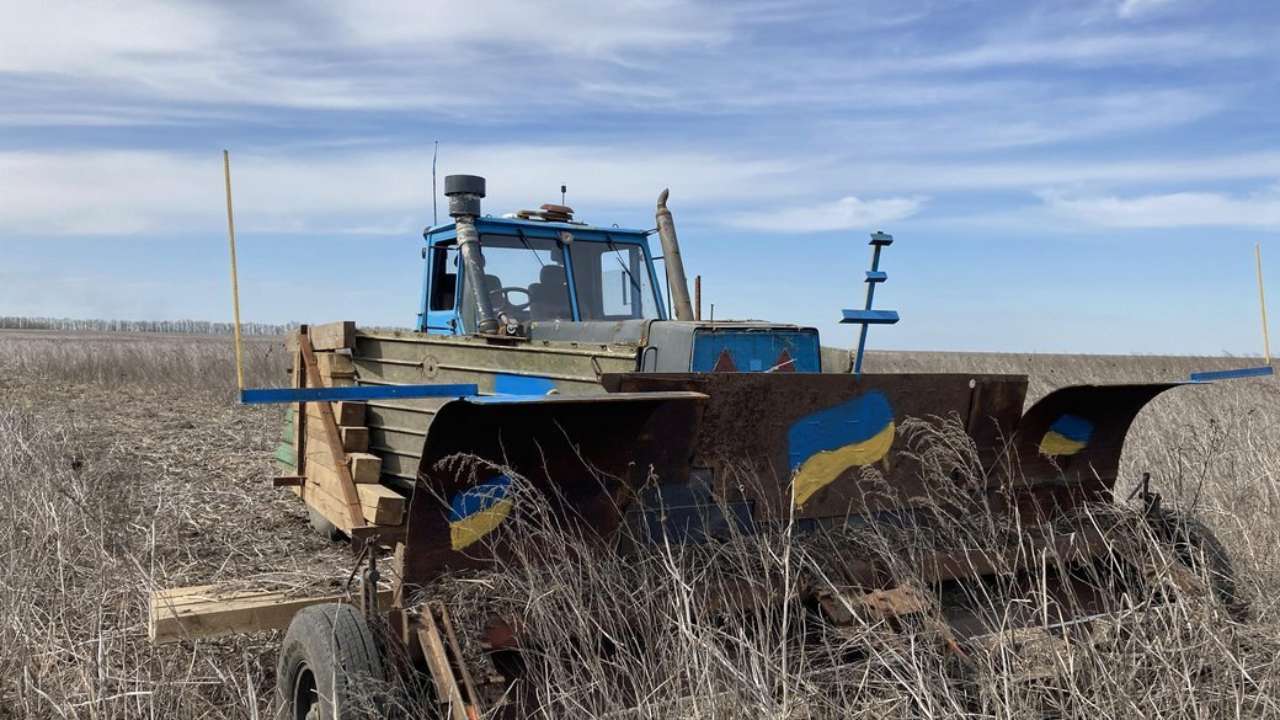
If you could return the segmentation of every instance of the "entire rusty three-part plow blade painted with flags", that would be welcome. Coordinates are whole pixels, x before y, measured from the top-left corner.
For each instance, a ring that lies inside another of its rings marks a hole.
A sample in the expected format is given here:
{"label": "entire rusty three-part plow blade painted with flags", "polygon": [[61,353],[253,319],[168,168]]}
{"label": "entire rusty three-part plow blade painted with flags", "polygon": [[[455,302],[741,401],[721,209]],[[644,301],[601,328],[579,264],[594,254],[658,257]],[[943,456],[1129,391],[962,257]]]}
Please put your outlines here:
{"label": "entire rusty three-part plow blade painted with flags", "polygon": [[[951,502],[947,493],[973,478],[948,475],[945,466],[941,473],[923,468],[922,448],[901,432],[908,418],[951,418],[963,428],[952,432],[973,441],[991,471],[980,478],[986,486],[961,488],[969,493],[965,502],[1048,520],[1110,501],[1129,424],[1146,402],[1175,387],[1064,388],[1023,415],[1021,375],[625,373],[603,374],[600,383],[608,393],[475,398],[440,407],[410,509],[408,582],[425,583],[503,553],[500,542],[460,543],[449,503],[506,473],[550,497],[571,527],[602,539],[636,518],[640,537],[658,537],[672,529],[669,523],[689,524],[699,512],[705,520],[708,510],[719,529],[696,533],[682,525],[681,537],[707,542],[717,532],[755,532],[791,520],[801,532],[882,519],[927,528],[929,514]],[[864,413],[867,398],[876,398],[874,413]],[[832,409],[852,410],[831,415]],[[831,427],[852,433],[852,441],[805,445],[805,433]],[[1076,432],[1080,427],[1088,432]],[[442,462],[460,456],[468,461]],[[820,473],[810,473],[812,465]],[[486,525],[481,532],[492,530]],[[1097,546],[1088,533],[1043,542],[1023,537],[1010,538],[1009,552],[938,548],[919,560],[927,582],[947,582],[1018,571],[1027,557],[1044,551],[1087,559]],[[845,561],[852,564],[851,584],[883,580],[874,562]]]}

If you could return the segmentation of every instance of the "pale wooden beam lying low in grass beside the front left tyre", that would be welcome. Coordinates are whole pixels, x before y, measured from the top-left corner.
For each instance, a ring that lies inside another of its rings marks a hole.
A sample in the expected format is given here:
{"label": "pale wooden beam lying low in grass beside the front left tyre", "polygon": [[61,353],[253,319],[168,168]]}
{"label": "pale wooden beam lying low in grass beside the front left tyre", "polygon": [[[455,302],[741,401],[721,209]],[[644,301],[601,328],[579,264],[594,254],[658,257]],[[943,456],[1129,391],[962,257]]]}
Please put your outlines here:
{"label": "pale wooden beam lying low in grass beside the front left tyre", "polygon": [[[390,602],[389,588],[378,592],[379,603]],[[303,607],[344,602],[340,594],[293,597],[285,592],[220,592],[215,585],[170,588],[151,593],[147,635],[154,643],[215,638],[288,628]]]}

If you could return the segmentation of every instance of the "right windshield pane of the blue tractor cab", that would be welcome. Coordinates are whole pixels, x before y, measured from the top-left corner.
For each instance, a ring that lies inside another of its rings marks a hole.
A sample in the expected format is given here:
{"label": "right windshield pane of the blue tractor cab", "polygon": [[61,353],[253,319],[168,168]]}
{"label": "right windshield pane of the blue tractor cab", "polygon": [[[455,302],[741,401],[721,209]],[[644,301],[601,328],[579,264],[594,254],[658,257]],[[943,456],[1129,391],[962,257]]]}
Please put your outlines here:
{"label": "right windshield pane of the blue tractor cab", "polygon": [[639,245],[579,241],[570,251],[584,320],[659,318],[649,264]]}

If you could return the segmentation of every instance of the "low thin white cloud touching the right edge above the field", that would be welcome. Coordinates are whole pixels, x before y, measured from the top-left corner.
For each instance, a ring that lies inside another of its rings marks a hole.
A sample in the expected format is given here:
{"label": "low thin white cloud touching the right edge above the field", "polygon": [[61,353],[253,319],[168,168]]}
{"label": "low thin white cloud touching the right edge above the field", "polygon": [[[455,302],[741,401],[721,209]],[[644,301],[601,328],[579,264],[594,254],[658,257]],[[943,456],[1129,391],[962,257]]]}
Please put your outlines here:
{"label": "low thin white cloud touching the right edge above the field", "polygon": [[1116,228],[1178,228],[1196,225],[1280,228],[1280,186],[1244,195],[1170,192],[1164,195],[1084,196],[1041,195],[1053,213],[1085,223]]}

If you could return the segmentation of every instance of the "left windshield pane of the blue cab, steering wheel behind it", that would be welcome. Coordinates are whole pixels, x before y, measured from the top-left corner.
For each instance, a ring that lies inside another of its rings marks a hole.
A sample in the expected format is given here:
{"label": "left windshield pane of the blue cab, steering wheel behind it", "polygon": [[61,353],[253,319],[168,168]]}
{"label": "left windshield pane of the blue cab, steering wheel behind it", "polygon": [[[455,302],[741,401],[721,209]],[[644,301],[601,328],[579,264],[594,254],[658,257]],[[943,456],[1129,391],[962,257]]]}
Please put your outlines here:
{"label": "left windshield pane of the blue cab, steering wheel behind it", "polygon": [[[564,251],[554,240],[480,236],[484,255],[485,291],[494,313],[527,323],[530,320],[568,320],[568,282],[564,274]],[[466,291],[462,320],[475,325],[475,302]]]}

